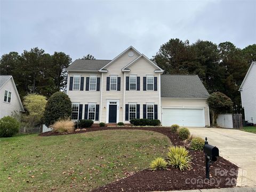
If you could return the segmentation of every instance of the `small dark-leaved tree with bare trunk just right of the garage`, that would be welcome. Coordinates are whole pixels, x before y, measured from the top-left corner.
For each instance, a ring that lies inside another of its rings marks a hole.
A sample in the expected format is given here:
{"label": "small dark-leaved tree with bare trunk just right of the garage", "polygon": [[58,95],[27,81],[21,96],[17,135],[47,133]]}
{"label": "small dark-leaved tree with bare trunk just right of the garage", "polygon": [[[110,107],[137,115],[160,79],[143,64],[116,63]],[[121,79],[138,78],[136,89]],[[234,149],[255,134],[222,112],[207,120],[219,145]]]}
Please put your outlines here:
{"label": "small dark-leaved tree with bare trunk just right of the garage", "polygon": [[212,113],[213,125],[217,124],[218,114],[229,113],[232,110],[233,102],[227,95],[221,92],[214,92],[207,99]]}

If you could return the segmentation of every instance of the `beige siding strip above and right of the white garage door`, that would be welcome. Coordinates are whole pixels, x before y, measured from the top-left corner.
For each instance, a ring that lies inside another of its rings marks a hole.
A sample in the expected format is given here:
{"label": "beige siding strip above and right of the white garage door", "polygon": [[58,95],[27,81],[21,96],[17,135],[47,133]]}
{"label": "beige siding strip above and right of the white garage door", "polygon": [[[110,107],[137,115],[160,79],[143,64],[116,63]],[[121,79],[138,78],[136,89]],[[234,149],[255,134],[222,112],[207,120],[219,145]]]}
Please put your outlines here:
{"label": "beige siding strip above and right of the white garage door", "polygon": [[187,99],[187,98],[161,98],[162,108],[164,107],[194,107],[194,108],[204,108],[204,118],[205,118],[205,126],[210,126],[209,119],[209,107],[206,103],[206,99]]}

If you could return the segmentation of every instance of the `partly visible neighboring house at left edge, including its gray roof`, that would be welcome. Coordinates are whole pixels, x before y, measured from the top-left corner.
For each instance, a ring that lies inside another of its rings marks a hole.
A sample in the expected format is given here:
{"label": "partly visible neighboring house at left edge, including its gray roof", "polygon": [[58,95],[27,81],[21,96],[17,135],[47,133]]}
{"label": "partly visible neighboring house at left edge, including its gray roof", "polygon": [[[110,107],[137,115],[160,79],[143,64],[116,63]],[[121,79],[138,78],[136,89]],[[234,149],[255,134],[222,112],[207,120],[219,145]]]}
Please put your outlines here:
{"label": "partly visible neighboring house at left edge, including its gray roof", "polygon": [[11,75],[0,75],[0,118],[13,111],[24,111],[19,93]]}

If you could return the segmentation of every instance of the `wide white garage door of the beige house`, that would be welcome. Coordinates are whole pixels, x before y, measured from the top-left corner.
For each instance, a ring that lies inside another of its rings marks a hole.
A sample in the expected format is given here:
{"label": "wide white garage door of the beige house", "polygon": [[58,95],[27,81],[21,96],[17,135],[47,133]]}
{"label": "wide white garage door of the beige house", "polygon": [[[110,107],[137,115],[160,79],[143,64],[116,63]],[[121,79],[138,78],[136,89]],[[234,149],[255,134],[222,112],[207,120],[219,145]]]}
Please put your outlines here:
{"label": "wide white garage door of the beige house", "polygon": [[163,126],[178,124],[180,126],[198,126],[204,127],[204,110],[203,109],[170,109],[162,110]]}

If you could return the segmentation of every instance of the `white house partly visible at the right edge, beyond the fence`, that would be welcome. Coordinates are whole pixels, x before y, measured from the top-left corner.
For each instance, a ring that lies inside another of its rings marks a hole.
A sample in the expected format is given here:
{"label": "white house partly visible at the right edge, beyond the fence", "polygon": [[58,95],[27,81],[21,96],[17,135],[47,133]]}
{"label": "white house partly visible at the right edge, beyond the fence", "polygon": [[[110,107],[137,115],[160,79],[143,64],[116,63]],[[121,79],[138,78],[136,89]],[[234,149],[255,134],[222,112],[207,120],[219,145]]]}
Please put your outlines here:
{"label": "white house partly visible at the right edge, beyond the fence", "polygon": [[252,62],[239,91],[241,92],[245,121],[256,124],[256,61]]}

